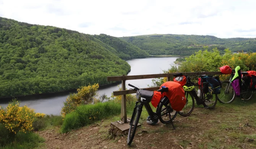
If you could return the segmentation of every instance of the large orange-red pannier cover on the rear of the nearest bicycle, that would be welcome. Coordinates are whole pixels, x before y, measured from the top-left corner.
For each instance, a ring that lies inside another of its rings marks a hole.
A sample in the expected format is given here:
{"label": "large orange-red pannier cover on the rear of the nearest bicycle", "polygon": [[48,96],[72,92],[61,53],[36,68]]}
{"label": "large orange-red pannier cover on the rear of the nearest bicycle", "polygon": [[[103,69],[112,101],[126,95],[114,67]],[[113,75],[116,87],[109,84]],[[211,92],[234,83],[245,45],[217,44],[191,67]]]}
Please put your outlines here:
{"label": "large orange-red pannier cover on the rear of the nearest bicycle", "polygon": [[163,83],[162,86],[168,87],[168,92],[163,92],[162,97],[167,96],[173,110],[181,111],[186,104],[185,92],[183,87],[174,81]]}

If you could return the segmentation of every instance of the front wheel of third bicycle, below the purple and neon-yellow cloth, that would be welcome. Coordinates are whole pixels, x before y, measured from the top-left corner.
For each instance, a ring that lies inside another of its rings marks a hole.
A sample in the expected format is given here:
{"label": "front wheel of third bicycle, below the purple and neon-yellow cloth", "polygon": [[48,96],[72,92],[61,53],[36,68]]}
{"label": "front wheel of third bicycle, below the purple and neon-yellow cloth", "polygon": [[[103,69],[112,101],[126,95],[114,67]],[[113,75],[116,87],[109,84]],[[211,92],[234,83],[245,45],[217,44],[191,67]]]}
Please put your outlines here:
{"label": "front wheel of third bicycle, below the purple and neon-yellow cloth", "polygon": [[[232,87],[232,85],[230,84],[229,81],[223,81],[221,83],[221,92],[218,96],[218,100],[220,103],[222,104],[231,104],[235,98],[236,98],[236,95],[235,95],[235,91]],[[227,89],[227,87],[229,86],[229,88]]]}

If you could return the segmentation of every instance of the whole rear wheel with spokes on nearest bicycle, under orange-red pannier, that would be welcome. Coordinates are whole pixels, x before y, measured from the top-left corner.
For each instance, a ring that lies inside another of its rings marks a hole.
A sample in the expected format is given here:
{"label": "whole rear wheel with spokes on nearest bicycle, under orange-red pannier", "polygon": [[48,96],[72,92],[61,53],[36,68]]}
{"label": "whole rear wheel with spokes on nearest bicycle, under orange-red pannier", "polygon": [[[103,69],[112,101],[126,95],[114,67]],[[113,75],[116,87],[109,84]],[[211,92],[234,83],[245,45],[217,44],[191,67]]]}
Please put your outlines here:
{"label": "whole rear wheel with spokes on nearest bicycle, under orange-red pannier", "polygon": [[164,105],[163,103],[159,104],[158,107],[158,115],[159,115],[159,120],[163,123],[163,124],[168,124],[171,121],[174,120],[174,118],[177,116],[178,112],[173,110],[170,107],[170,103],[168,105]]}

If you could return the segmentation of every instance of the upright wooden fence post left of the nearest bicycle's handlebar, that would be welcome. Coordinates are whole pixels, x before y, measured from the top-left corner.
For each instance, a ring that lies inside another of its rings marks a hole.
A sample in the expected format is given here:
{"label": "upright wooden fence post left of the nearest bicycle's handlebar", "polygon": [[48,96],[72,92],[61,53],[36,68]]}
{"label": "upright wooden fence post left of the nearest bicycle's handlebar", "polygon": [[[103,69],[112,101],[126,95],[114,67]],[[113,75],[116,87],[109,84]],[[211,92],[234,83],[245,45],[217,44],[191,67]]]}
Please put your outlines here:
{"label": "upright wooden fence post left of the nearest bicycle's handlebar", "polygon": [[[123,75],[124,76],[124,75]],[[122,80],[122,90],[126,90],[125,88],[125,80]],[[121,103],[121,121],[119,123],[126,123],[127,122],[127,115],[126,115],[126,95],[122,95],[122,103]]]}

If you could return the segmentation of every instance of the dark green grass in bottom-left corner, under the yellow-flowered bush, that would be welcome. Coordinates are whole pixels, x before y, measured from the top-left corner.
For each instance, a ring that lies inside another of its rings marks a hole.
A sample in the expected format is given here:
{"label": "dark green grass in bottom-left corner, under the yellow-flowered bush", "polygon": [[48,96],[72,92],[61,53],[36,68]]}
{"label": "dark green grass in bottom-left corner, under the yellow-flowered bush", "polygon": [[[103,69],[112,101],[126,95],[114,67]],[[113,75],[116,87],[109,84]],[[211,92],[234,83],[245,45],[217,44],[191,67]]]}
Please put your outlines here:
{"label": "dark green grass in bottom-left corner, under the yellow-flowered bush", "polygon": [[0,123],[0,148],[1,149],[32,149],[43,143],[44,139],[36,133],[17,133],[12,135]]}

